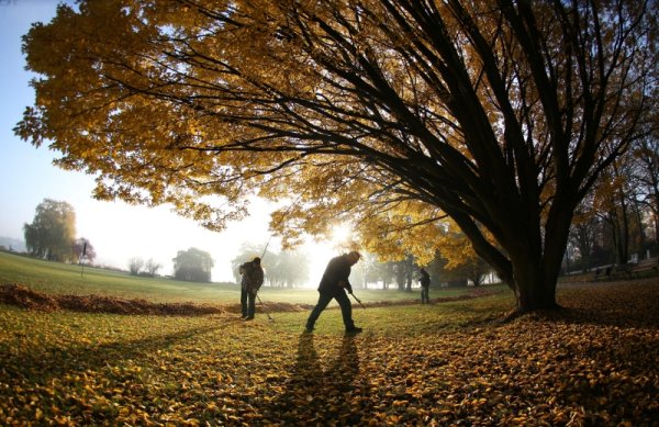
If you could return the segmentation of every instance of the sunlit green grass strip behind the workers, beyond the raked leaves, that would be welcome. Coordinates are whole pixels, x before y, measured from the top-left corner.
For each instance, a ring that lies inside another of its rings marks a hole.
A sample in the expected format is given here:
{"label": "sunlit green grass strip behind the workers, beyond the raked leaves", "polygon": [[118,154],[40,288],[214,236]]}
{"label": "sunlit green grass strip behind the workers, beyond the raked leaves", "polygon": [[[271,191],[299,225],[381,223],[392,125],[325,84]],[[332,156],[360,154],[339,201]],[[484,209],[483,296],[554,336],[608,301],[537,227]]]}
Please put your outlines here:
{"label": "sunlit green grass strip behind the workers, beyond the raked leaves", "polygon": [[[48,294],[108,295],[125,299],[144,299],[153,302],[196,302],[232,304],[239,299],[239,286],[234,283],[194,283],[166,278],[143,278],[125,272],[98,268],[49,262],[15,254],[0,251],[0,283],[24,284]],[[431,297],[451,297],[469,293],[470,290],[432,290]],[[362,302],[415,301],[417,291],[361,290],[355,293]],[[264,302],[314,304],[315,289],[261,288],[259,297]]]}

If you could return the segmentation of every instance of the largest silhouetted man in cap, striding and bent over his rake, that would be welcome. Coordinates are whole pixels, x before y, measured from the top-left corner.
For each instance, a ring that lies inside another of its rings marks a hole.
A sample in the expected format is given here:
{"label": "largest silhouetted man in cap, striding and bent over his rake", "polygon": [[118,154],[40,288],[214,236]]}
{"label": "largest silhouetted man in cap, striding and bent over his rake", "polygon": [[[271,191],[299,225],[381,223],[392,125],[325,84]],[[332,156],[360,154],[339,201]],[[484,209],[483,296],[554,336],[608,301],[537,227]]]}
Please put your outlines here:
{"label": "largest silhouetted man in cap, striding and bent over his rake", "polygon": [[361,258],[361,255],[353,250],[349,254],[339,255],[330,260],[319,285],[319,302],[306,319],[305,330],[308,333],[313,330],[319,316],[332,299],[336,300],[340,307],[346,334],[358,334],[361,332],[361,328],[355,326],[355,322],[353,321],[353,305],[346,293],[346,291],[350,294],[353,293],[353,285],[348,281],[348,277],[350,276],[350,267],[357,263],[359,258]]}

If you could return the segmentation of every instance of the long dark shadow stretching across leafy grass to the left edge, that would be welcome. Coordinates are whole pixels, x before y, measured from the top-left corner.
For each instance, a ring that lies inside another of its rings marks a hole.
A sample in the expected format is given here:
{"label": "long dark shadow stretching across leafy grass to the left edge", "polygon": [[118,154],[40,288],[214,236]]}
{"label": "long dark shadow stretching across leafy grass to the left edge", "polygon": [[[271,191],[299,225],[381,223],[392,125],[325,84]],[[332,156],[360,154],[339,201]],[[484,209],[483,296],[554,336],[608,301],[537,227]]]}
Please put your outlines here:
{"label": "long dark shadow stretching across leafy grass to the left edge", "polygon": [[100,346],[78,345],[41,349],[34,346],[25,347],[29,351],[0,346],[0,373],[7,375],[7,380],[10,381],[26,380],[47,384],[54,378],[62,379],[67,374],[74,377],[88,370],[96,371],[107,366],[116,366],[121,360],[138,361],[146,355],[166,349],[176,342],[223,327],[224,325],[198,327],[147,339]]}

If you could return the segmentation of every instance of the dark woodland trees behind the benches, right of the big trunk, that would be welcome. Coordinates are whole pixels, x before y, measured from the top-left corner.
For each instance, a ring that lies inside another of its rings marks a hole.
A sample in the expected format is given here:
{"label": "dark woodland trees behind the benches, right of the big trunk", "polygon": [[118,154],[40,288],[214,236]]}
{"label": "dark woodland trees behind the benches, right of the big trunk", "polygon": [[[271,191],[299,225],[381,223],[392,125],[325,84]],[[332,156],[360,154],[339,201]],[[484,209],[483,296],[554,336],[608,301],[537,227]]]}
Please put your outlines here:
{"label": "dark woodland trees behind the benches, right of the big trunk", "polygon": [[635,142],[580,204],[563,272],[659,254],[659,132]]}

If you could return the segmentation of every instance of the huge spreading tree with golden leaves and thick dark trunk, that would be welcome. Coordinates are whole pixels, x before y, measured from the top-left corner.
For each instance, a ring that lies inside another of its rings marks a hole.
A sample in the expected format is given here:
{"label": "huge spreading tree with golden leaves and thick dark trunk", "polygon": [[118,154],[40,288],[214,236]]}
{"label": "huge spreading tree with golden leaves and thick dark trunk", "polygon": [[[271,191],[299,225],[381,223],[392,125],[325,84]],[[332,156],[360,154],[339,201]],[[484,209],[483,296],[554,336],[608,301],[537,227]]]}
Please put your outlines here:
{"label": "huge spreading tree with golden leaves and thick dark trunk", "polygon": [[297,194],[272,218],[287,241],[347,217],[369,249],[425,263],[448,215],[518,311],[550,308],[572,212],[647,132],[652,10],[81,1],[25,36],[41,77],[16,133],[97,172],[97,198],[170,202],[211,228],[254,191]]}

